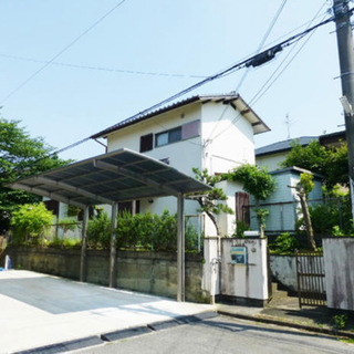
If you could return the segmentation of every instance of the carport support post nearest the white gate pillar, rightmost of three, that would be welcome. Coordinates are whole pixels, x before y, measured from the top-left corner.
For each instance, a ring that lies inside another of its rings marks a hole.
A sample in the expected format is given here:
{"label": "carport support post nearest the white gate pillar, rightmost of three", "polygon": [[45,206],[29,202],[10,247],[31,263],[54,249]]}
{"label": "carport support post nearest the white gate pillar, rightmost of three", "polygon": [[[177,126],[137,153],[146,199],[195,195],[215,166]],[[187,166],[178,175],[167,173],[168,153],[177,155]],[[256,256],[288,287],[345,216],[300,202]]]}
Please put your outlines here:
{"label": "carport support post nearest the white gate pillar, rightmost of three", "polygon": [[177,196],[177,301],[185,301],[185,198]]}

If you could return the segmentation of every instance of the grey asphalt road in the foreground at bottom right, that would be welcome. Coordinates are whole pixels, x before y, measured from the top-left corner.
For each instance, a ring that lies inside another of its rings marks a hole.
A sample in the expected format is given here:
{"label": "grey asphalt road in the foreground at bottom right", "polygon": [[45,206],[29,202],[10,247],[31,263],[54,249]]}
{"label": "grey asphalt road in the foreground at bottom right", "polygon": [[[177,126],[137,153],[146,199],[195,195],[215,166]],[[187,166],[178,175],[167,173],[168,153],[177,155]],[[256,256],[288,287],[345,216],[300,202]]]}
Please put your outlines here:
{"label": "grey asphalt road in the foreground at bottom right", "polygon": [[218,316],[150,332],[75,354],[235,354],[235,353],[354,353],[354,344],[325,335]]}

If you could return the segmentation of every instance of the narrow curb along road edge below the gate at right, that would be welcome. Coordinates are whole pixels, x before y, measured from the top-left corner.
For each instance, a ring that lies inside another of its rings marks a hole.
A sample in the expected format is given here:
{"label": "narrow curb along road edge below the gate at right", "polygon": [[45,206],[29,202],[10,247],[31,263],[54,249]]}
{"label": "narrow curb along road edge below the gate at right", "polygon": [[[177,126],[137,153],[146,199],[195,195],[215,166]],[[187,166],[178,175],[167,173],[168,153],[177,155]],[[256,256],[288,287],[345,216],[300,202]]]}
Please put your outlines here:
{"label": "narrow curb along road edge below the gate at right", "polygon": [[329,335],[333,335],[333,336],[354,339],[354,333],[352,333],[352,332],[337,331],[337,330],[331,330],[331,329],[321,329],[321,327],[316,327],[316,326],[312,326],[312,325],[293,323],[293,322],[289,322],[289,321],[282,321],[282,320],[278,320],[275,317],[270,319],[270,317],[263,317],[263,316],[252,316],[252,315],[247,315],[247,314],[231,313],[231,312],[227,312],[227,311],[222,311],[222,310],[218,310],[218,313],[221,315],[230,316],[230,317],[235,317],[235,319],[256,321],[256,322],[287,326],[287,327],[296,329],[296,330],[304,330],[304,331],[314,332],[314,333],[322,333],[322,334],[329,334]]}

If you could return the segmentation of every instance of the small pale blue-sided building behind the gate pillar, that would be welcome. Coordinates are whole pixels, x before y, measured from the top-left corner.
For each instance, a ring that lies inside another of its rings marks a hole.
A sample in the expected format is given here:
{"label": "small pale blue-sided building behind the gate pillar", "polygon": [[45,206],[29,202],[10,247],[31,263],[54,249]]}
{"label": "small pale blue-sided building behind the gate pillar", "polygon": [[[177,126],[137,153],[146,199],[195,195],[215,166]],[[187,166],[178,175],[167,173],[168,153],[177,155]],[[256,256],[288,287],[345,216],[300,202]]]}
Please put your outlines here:
{"label": "small pale blue-sided building behind the gate pillar", "polygon": [[[261,201],[261,208],[269,210],[269,216],[266,221],[266,233],[277,235],[281,232],[295,231],[295,222],[301,217],[300,200],[294,188],[300,181],[300,175],[311,173],[299,167],[289,167],[284,169],[273,170],[270,175],[277,180],[275,191]],[[312,204],[321,202],[322,200],[322,177],[314,174],[314,188],[309,194],[309,200]],[[252,199],[251,199],[252,204]],[[254,208],[251,207],[250,226],[252,230],[258,229]]]}

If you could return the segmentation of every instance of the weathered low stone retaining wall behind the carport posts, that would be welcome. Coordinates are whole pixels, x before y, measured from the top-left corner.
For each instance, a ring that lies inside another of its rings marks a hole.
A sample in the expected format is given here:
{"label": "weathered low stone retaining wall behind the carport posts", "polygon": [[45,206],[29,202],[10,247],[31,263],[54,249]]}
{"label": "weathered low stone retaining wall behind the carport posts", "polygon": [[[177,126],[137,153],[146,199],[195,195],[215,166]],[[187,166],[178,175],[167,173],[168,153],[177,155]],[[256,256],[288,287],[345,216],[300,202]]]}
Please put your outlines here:
{"label": "weathered low stone retaining wall behind the carport posts", "polygon": [[[80,249],[8,247],[0,259],[9,254],[15,269],[79,280]],[[208,302],[210,294],[201,290],[204,258],[186,253],[186,300]],[[87,251],[87,282],[108,285],[108,251]],[[118,251],[117,288],[176,298],[177,254],[167,252]]]}

